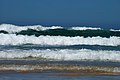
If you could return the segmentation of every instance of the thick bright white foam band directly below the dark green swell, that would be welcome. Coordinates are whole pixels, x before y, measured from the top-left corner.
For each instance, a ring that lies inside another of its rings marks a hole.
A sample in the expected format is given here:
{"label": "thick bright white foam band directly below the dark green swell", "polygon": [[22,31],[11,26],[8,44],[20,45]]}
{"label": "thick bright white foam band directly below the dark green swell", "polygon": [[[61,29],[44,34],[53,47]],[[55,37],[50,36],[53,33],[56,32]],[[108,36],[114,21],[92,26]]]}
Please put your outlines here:
{"label": "thick bright white foam band directly below the dark green swell", "polygon": [[22,44],[40,44],[40,45],[120,45],[120,37],[66,37],[66,36],[27,36],[15,34],[0,34],[0,45],[22,45]]}

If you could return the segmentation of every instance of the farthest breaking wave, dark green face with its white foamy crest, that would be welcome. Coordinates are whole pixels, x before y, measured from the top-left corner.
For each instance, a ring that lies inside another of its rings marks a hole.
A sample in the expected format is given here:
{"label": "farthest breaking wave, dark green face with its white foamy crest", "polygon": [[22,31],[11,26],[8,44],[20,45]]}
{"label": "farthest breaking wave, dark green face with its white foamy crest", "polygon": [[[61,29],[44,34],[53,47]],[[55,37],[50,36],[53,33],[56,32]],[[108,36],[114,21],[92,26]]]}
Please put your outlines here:
{"label": "farthest breaking wave, dark green face with its white foamy crest", "polygon": [[120,37],[119,30],[104,30],[101,28],[92,28],[92,27],[70,27],[64,28],[61,26],[52,26],[52,27],[43,27],[41,25],[35,26],[15,26],[11,24],[1,24],[0,33],[4,34],[17,34],[17,35],[49,35],[49,36],[83,36],[83,37],[111,37],[116,36]]}

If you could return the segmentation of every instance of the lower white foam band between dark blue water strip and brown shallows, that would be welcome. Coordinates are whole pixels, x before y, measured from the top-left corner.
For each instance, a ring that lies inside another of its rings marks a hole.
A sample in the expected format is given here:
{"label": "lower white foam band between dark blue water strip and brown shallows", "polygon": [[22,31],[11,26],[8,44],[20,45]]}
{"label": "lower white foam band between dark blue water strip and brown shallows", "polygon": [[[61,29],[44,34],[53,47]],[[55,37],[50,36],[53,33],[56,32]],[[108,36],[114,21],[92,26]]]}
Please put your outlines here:
{"label": "lower white foam band between dark blue water strip and brown shallows", "polygon": [[5,50],[0,51],[0,58],[43,57],[57,60],[114,60],[120,61],[120,51],[94,51],[89,49],[56,50]]}

